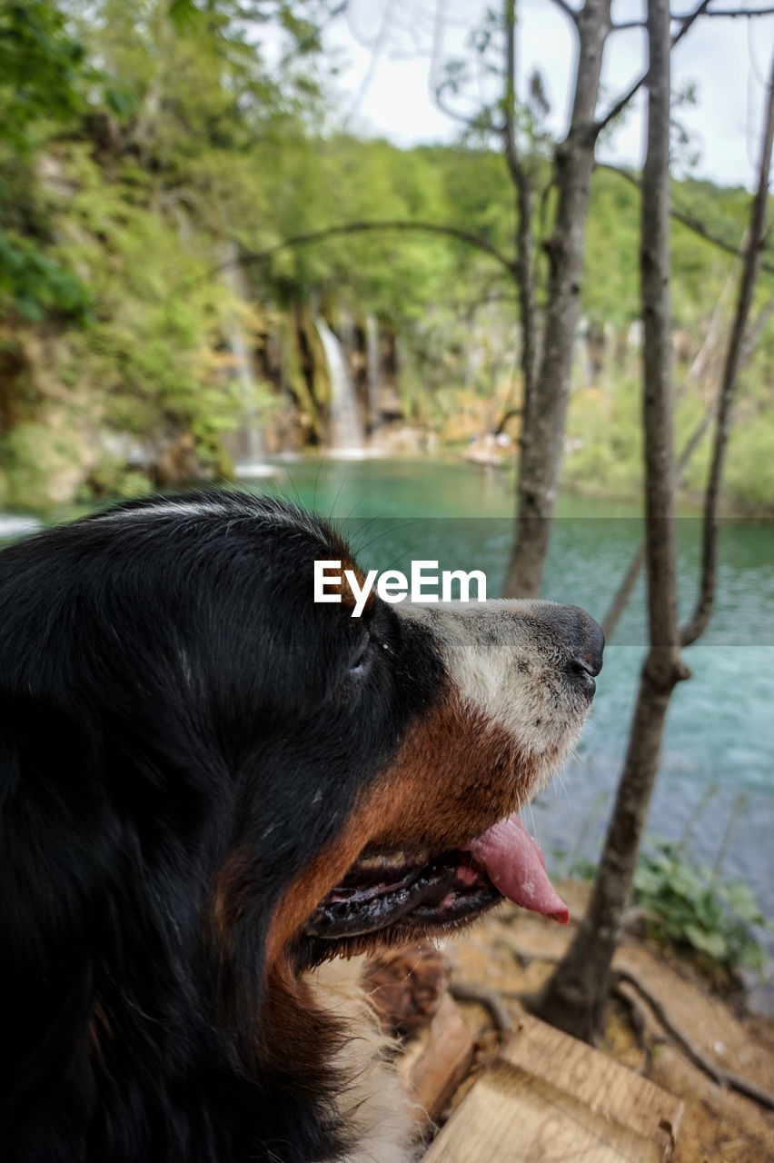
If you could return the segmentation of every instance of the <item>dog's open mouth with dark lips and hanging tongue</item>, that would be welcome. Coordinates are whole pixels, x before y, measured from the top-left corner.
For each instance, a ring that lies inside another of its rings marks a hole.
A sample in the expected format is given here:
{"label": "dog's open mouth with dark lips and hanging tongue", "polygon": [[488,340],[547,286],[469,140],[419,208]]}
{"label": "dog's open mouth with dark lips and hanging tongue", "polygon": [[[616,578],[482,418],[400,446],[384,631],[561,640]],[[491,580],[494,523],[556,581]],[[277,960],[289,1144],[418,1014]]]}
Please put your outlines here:
{"label": "dog's open mouth with dark lips and hanging tongue", "polygon": [[433,929],[474,916],[507,897],[560,925],[569,920],[539,846],[517,814],[459,849],[361,856],[306,925],[308,936],[364,936],[396,922]]}

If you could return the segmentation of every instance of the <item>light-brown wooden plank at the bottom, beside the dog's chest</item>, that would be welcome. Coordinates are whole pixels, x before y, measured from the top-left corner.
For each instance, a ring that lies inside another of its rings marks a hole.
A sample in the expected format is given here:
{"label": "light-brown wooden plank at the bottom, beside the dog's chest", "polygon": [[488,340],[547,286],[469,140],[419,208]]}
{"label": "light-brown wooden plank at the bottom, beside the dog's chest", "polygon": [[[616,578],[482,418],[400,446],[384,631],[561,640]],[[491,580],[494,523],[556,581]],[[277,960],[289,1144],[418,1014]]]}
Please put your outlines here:
{"label": "light-brown wooden plank at the bottom, beside the dog's chest", "polygon": [[681,1118],[653,1083],[524,1018],[423,1163],[665,1163]]}

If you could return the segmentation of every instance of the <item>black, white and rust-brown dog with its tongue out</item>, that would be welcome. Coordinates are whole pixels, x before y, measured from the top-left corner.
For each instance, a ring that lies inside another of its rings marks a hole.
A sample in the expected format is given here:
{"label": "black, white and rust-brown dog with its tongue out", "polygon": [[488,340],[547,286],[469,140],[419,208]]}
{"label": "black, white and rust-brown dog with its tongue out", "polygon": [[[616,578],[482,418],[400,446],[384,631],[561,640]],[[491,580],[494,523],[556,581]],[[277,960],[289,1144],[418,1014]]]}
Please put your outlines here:
{"label": "black, white and rust-brown dog with its tongue out", "polygon": [[225,491],[0,552],[6,1163],[406,1158],[310,970],[503,896],[567,919],[516,813],[600,628],[374,593],[353,618],[313,601],[332,558],[361,579],[334,528]]}

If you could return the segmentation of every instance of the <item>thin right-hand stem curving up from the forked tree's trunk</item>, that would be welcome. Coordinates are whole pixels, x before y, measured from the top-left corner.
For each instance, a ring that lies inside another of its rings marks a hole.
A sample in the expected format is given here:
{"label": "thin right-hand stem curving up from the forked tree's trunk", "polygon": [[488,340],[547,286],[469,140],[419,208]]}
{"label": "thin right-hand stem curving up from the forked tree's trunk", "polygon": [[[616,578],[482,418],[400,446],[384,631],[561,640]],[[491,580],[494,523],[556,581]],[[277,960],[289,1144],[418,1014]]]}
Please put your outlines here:
{"label": "thin right-hand stem curving up from the forked tree's trunk", "polygon": [[703,634],[710,620],[715,605],[715,575],[717,557],[717,530],[718,530],[718,502],[721,494],[721,481],[725,464],[725,452],[731,433],[731,414],[733,411],[733,399],[736,395],[739,365],[744,350],[745,330],[752,306],[758,270],[760,266],[760,248],[766,231],[766,211],[768,202],[768,176],[772,167],[772,148],[774,144],[774,57],[772,58],[772,72],[768,81],[766,107],[766,122],[761,149],[760,172],[758,190],[752,204],[750,215],[750,235],[745,254],[744,269],[739,281],[739,298],[737,312],[731,329],[731,340],[723,369],[721,393],[717,409],[717,421],[715,427],[715,443],[712,448],[712,461],[707,481],[707,493],[704,497],[704,522],[702,540],[702,577],[693,616],[682,627],[680,641],[682,645],[689,645]]}

